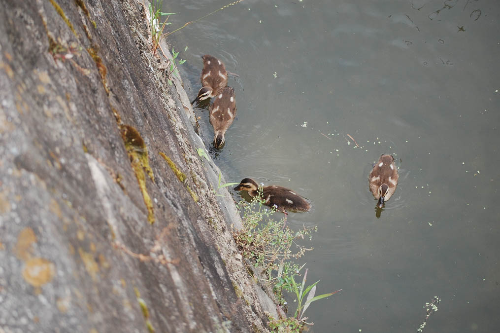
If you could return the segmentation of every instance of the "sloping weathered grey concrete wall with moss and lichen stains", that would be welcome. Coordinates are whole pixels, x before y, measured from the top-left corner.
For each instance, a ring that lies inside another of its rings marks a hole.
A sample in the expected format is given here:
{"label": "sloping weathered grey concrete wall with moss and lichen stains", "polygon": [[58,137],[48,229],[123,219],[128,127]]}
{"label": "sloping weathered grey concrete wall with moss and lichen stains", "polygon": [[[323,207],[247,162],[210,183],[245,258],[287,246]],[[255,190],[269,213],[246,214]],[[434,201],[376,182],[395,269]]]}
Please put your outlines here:
{"label": "sloping weathered grey concrete wall with moss and lichen stains", "polygon": [[142,6],[0,9],[0,331],[264,331]]}

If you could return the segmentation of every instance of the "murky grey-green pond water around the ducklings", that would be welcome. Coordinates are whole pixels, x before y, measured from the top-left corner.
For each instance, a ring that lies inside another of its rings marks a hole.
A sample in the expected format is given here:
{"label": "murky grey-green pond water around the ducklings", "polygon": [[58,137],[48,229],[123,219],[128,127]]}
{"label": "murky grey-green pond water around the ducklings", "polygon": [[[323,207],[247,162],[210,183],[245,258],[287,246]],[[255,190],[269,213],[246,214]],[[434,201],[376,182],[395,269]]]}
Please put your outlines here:
{"label": "murky grey-green pond water around the ducklings", "polygon": [[[165,4],[168,29],[223,5]],[[203,54],[238,75],[226,180],[314,203],[289,225],[319,228],[302,260],[317,293],[343,288],[309,307],[314,331],[416,331],[433,296],[424,331],[498,330],[499,20],[496,0],[246,0],[172,35],[190,97]],[[382,153],[399,184],[377,217],[367,175]]]}

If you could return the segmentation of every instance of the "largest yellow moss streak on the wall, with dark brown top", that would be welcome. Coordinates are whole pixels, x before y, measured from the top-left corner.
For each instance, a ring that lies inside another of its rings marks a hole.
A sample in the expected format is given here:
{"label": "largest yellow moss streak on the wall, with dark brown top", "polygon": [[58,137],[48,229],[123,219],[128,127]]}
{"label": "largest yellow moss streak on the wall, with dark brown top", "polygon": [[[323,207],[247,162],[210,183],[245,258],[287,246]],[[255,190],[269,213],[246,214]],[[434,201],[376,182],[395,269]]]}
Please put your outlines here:
{"label": "largest yellow moss streak on the wall, with dark brown top", "polygon": [[154,223],[153,204],[151,197],[147,193],[145,173],[147,173],[152,181],[154,181],[154,175],[149,167],[147,147],[139,132],[132,126],[120,125],[120,132],[128,157],[130,158],[130,165],[135,173],[142,197],[144,198],[147,208],[147,220],[152,224]]}

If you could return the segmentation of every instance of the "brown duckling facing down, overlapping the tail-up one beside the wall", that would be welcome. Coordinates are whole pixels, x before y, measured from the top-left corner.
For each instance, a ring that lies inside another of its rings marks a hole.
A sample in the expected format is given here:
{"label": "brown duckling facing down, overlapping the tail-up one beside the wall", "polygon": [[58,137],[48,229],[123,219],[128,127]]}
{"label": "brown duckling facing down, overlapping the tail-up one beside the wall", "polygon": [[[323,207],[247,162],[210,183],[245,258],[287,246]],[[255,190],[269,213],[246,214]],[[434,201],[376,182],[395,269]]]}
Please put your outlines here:
{"label": "brown duckling facing down, overlapping the tail-up one beside the wall", "polygon": [[222,148],[225,131],[231,126],[236,115],[236,99],[234,89],[224,87],[219,91],[213,103],[208,107],[208,120],[213,127],[213,147]]}

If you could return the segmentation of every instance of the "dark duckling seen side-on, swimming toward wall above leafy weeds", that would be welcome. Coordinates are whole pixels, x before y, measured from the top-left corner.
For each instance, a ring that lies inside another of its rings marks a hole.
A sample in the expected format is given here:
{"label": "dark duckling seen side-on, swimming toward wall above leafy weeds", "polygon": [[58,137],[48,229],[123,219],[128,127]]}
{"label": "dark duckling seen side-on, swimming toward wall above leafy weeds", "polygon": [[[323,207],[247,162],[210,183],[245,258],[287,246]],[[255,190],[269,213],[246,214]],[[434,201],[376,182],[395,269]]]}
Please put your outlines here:
{"label": "dark duckling seen side-on, swimming toward wall above leafy weeds", "polygon": [[[259,186],[253,179],[244,178],[234,190],[248,191],[248,194],[254,197],[258,194],[258,188]],[[288,215],[287,211],[308,212],[311,209],[311,204],[306,199],[290,189],[277,185],[263,186],[262,199],[264,205],[275,206],[277,211],[284,213],[285,221]]]}

